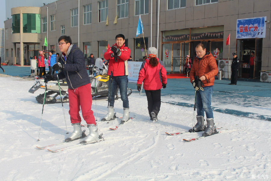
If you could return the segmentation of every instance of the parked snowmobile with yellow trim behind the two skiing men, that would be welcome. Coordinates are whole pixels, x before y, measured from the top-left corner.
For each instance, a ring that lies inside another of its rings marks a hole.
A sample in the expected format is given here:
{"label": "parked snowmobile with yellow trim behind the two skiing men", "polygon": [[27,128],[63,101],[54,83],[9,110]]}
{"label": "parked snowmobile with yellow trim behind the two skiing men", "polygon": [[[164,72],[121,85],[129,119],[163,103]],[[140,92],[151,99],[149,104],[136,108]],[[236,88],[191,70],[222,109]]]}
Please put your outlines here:
{"label": "parked snowmobile with yellow trim behind the two skiing men", "polygon": [[[107,66],[104,65],[103,60],[101,58],[97,58],[94,65],[89,65],[87,67],[89,69],[89,78],[91,82],[91,94],[92,97],[107,97],[108,96],[108,84],[110,83],[109,81],[109,75],[107,75]],[[63,103],[69,102],[69,97],[68,97],[68,86],[67,82],[65,79],[59,81],[60,84],[60,90],[61,90],[61,96],[63,98]],[[35,84],[30,88],[28,92],[34,94],[36,90],[39,88],[45,89],[45,84],[40,83],[40,79],[38,77],[35,77]],[[46,92],[46,97],[45,97],[45,104],[53,104],[53,103],[61,103],[60,97],[60,91],[58,87],[58,81],[50,81],[47,83],[47,90]],[[95,92],[96,90],[96,92]],[[127,95],[132,94],[132,89],[128,88],[127,89]],[[118,89],[116,91],[116,97],[115,99],[118,99]],[[36,100],[38,103],[43,104],[44,100],[44,93],[39,94],[36,97]]]}

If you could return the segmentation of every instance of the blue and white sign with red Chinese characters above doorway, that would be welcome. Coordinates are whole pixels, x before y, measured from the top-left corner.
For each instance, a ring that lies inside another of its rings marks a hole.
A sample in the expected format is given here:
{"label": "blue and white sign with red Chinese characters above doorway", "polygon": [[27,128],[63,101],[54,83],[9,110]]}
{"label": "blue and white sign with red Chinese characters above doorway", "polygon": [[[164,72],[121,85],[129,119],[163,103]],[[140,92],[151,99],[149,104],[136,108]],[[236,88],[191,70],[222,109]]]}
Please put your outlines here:
{"label": "blue and white sign with red Chinese characters above doorway", "polygon": [[265,38],[266,16],[237,19],[236,39]]}

